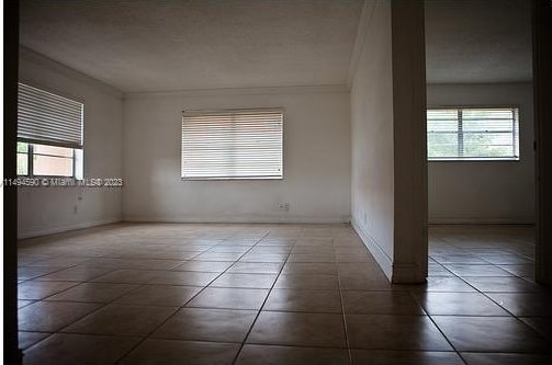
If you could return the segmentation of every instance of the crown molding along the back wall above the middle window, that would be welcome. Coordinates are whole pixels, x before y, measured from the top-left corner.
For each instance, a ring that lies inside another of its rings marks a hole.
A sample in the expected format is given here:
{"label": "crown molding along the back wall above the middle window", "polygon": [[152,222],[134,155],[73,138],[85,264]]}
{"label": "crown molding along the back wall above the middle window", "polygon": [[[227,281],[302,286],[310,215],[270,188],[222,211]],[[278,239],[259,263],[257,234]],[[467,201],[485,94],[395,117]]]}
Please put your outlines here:
{"label": "crown molding along the back wall above the middle window", "polygon": [[217,95],[248,95],[248,94],[290,94],[290,93],[347,93],[346,84],[262,87],[262,88],[221,88],[221,89],[188,89],[174,91],[137,91],[126,92],[125,99],[149,98],[194,98]]}

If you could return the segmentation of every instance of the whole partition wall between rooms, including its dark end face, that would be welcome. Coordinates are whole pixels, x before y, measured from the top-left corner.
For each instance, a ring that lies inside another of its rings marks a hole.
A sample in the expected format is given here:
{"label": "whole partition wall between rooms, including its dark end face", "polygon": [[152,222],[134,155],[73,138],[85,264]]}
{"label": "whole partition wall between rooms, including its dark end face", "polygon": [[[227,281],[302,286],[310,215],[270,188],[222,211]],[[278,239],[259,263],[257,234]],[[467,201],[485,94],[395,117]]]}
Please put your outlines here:
{"label": "whole partition wall between rooms, including its dark end face", "polygon": [[367,3],[358,38],[352,224],[392,282],[420,283],[427,275],[424,3]]}

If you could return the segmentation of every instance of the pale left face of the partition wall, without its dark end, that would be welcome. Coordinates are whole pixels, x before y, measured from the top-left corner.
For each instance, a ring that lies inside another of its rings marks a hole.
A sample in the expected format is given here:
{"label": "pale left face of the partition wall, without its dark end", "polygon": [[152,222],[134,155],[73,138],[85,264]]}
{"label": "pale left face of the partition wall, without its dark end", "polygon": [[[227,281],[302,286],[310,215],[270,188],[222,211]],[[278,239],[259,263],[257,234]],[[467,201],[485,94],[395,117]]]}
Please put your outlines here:
{"label": "pale left face of the partition wall, without its dark end", "polygon": [[351,84],[352,224],[387,276],[394,251],[391,4],[365,5]]}

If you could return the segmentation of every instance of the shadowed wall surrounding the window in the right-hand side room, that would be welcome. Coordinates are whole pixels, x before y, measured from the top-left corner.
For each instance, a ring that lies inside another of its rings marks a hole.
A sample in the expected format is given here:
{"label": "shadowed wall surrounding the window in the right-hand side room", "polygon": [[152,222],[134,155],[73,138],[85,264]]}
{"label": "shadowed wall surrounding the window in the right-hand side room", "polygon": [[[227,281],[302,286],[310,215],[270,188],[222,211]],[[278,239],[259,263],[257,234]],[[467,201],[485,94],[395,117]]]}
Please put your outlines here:
{"label": "shadowed wall surrounding the window in the right-hand side room", "polygon": [[519,161],[429,162],[430,223],[533,223],[531,83],[431,84],[428,106],[519,105]]}

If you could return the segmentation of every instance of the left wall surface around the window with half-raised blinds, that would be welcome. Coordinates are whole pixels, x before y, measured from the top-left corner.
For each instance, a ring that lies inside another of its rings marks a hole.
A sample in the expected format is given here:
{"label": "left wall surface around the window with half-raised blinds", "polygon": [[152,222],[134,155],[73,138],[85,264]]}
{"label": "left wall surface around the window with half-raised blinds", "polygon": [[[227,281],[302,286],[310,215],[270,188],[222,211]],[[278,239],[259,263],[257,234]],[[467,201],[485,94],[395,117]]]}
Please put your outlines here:
{"label": "left wall surface around the window with half-raised blinds", "polygon": [[[20,80],[83,100],[85,178],[121,178],[122,95],[30,50],[20,53]],[[121,220],[122,189],[20,187],[18,236],[54,233]]]}

